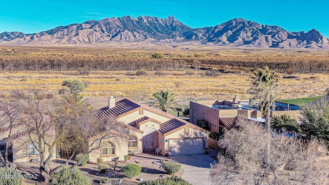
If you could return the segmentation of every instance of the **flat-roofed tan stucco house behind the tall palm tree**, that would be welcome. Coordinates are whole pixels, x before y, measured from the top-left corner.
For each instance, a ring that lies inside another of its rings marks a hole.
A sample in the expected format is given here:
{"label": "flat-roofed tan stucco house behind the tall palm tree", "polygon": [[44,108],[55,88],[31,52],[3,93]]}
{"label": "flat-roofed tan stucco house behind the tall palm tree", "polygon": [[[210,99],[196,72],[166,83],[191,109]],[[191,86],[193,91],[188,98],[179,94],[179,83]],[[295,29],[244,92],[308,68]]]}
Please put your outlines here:
{"label": "flat-roofed tan stucco house behind the tall palm tree", "polygon": [[[270,111],[270,116],[287,115],[298,120],[299,111],[297,105],[277,101],[275,110]],[[196,124],[197,120],[205,120],[211,132],[222,134],[224,129],[232,127],[239,116],[259,122],[265,121],[258,105],[251,105],[251,100],[235,97],[232,101],[190,101],[190,122]]]}

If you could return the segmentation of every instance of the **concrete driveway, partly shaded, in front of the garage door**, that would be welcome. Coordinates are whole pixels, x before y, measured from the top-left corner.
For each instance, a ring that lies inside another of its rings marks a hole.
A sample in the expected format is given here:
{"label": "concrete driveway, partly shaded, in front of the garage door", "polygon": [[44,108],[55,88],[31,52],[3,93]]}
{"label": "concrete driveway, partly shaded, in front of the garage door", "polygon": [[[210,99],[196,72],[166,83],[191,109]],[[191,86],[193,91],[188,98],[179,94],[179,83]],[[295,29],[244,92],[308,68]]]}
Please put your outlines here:
{"label": "concrete driveway, partly shaded, in front of the garage door", "polygon": [[184,169],[182,179],[189,181],[193,185],[210,185],[208,180],[210,163],[214,159],[206,154],[188,154],[170,156],[173,161],[181,164]]}

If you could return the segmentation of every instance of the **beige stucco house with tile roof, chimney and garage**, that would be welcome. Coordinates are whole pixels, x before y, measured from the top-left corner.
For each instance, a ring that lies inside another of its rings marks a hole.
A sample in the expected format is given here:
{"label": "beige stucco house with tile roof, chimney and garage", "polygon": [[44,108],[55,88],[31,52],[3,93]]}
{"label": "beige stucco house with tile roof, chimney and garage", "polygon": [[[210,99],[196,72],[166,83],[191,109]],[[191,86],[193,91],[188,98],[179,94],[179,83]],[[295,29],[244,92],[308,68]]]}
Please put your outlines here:
{"label": "beige stucco house with tile roof, chimney and garage", "polygon": [[[204,153],[208,148],[209,133],[198,126],[181,120],[159,109],[123,99],[118,102],[113,97],[108,105],[95,114],[97,119],[115,117],[130,130],[127,140],[104,140],[99,150],[89,154],[89,160],[96,162],[98,157],[104,161],[119,157],[120,160],[129,151],[155,152],[163,156]],[[93,147],[95,145],[89,145]],[[160,155],[159,154],[159,155]]]}

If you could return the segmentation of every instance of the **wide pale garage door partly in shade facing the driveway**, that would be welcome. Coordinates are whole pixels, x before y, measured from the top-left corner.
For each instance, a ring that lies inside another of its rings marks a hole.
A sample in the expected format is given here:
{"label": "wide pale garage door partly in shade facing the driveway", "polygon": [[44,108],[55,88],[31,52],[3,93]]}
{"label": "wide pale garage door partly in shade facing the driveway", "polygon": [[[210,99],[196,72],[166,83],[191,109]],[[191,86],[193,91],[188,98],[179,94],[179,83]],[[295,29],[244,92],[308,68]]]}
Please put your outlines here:
{"label": "wide pale garage door partly in shade facing the driveway", "polygon": [[204,139],[175,139],[169,140],[169,155],[201,154],[204,153]]}

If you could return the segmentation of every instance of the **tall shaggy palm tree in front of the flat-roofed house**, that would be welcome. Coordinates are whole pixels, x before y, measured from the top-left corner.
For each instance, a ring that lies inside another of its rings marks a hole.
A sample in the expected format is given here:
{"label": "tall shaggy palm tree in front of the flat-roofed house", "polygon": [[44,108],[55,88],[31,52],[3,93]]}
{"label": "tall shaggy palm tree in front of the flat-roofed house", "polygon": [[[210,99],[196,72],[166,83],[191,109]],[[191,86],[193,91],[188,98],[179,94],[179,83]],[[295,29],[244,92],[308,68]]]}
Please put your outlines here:
{"label": "tall shaggy palm tree in front of the flat-roofed house", "polygon": [[273,110],[276,107],[275,101],[279,98],[278,82],[281,77],[266,66],[265,69],[257,69],[251,78],[252,87],[249,92],[254,94],[251,104],[259,102],[258,108],[262,117],[266,118],[267,130],[270,131],[270,107],[272,106]]}

